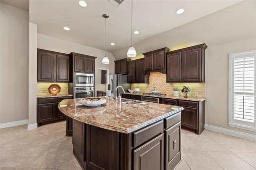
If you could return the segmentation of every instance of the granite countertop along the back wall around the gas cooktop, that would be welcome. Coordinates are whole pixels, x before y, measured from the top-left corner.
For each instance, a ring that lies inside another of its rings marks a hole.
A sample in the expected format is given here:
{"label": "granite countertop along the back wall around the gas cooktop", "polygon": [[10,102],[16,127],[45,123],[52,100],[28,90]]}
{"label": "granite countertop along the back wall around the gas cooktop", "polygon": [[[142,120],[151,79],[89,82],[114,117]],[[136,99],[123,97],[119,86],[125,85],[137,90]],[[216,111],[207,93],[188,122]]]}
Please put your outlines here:
{"label": "granite countertop along the back wall around the gas cooktop", "polygon": [[148,97],[154,97],[154,98],[168,98],[168,99],[178,99],[178,100],[190,100],[190,101],[195,101],[195,102],[202,102],[206,100],[206,98],[196,98],[196,97],[189,97],[189,98],[184,98],[183,96],[180,97],[175,97],[172,94],[166,94],[166,96],[156,96],[156,95],[149,95],[149,94],[136,94],[136,93],[125,93],[125,94],[132,94],[132,95],[138,95],[138,96],[148,96]]}

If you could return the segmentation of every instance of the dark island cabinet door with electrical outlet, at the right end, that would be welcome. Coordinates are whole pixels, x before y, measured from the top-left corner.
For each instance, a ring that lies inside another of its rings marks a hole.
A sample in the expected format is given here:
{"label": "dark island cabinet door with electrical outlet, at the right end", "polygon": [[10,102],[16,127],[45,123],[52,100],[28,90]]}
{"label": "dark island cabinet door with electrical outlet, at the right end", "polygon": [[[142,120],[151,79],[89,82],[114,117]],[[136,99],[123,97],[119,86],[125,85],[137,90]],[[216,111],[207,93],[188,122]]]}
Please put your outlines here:
{"label": "dark island cabinet door with electrical outlet, at the right end", "polygon": [[165,131],[166,151],[165,166],[166,170],[173,170],[180,162],[180,122]]}

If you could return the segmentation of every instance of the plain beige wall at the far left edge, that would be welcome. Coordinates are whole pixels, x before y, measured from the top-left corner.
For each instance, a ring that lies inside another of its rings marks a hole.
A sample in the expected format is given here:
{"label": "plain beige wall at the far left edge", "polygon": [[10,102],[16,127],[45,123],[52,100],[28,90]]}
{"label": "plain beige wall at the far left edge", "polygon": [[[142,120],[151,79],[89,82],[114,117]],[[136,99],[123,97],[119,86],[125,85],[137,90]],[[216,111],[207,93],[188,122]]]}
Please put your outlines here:
{"label": "plain beige wall at the far left edge", "polygon": [[28,12],[0,6],[0,123],[7,123],[28,119]]}

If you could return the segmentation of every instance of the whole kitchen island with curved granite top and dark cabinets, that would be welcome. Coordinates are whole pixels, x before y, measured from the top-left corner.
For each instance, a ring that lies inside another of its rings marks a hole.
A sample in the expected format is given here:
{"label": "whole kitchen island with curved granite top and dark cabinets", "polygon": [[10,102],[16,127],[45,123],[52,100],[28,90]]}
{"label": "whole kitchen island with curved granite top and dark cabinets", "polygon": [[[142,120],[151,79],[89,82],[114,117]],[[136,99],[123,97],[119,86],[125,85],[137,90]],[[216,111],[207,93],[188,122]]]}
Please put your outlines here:
{"label": "whole kitchen island with curved granite top and dark cabinets", "polygon": [[184,108],[134,102],[97,107],[60,102],[59,110],[74,119],[73,153],[83,169],[171,170],[180,162]]}

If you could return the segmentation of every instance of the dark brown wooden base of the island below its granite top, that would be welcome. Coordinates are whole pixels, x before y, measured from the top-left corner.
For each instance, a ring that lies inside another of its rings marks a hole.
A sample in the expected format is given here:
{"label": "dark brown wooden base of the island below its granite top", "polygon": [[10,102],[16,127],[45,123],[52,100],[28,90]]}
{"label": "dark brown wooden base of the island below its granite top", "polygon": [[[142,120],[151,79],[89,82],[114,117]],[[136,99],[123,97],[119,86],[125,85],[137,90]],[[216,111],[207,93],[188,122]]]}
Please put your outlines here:
{"label": "dark brown wooden base of the island below its granite top", "polygon": [[84,170],[172,170],[181,161],[180,114],[131,133],[74,119],[74,156]]}

